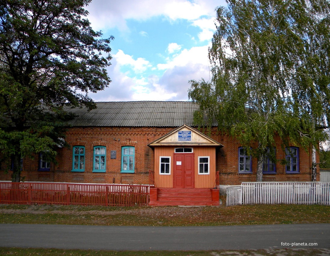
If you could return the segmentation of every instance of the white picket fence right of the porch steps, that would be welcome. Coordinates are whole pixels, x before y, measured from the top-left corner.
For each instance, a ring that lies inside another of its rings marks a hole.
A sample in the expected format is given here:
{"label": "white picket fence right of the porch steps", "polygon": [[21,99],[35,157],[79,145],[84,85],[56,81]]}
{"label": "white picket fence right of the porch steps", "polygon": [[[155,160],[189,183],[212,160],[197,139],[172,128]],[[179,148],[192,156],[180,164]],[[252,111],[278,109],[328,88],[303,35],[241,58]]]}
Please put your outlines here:
{"label": "white picket fence right of the porch steps", "polygon": [[330,205],[330,182],[242,182],[227,188],[226,205],[325,204]]}

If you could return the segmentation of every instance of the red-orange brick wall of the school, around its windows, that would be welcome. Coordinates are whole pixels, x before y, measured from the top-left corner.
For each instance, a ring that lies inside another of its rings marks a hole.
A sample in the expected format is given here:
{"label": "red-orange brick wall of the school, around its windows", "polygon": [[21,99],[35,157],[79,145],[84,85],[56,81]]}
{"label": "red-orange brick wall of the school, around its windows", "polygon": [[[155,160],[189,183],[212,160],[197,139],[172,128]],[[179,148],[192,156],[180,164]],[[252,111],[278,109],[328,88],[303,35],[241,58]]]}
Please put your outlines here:
{"label": "red-orange brick wall of the school, around its windows", "polygon": [[[71,145],[70,149],[59,148],[57,165],[51,164],[50,171],[38,171],[39,157],[26,158],[23,161],[21,176],[25,181],[45,182],[75,182],[75,183],[122,183],[122,184],[149,184],[149,170],[154,168],[154,152],[147,145],[172,128],[149,127],[75,127],[67,132],[66,140]],[[206,133],[207,134],[207,133]],[[209,134],[207,134],[209,135]],[[255,181],[256,159],[252,159],[252,174],[238,173],[238,147],[239,142],[227,135],[218,133],[214,128],[211,132],[212,139],[221,143],[224,147],[216,150],[216,169],[219,170],[221,185],[241,184],[243,181]],[[285,157],[281,150],[280,141],[276,140],[276,157]],[[73,146],[85,146],[85,171],[72,172]],[[93,169],[93,146],[106,146],[106,172],[96,173]],[[121,147],[135,147],[134,173],[120,173]],[[111,159],[111,150],[116,150],[116,159]],[[311,149],[306,152],[299,149],[300,173],[287,174],[285,166],[277,163],[276,174],[264,174],[264,181],[310,181],[311,180]],[[317,160],[318,162],[318,155]],[[6,165],[1,166],[0,180],[11,180],[11,171],[5,174]],[[317,168],[317,180],[319,180],[319,168]]]}

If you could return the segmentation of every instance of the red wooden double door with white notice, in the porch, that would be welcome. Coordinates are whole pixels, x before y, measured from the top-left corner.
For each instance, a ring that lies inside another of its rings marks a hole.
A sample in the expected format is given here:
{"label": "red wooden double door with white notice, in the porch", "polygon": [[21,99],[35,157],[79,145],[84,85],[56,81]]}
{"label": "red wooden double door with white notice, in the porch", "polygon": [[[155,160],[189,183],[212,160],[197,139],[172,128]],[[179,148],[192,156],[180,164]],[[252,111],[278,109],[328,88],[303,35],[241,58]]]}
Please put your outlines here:
{"label": "red wooden double door with white notice, in the porch", "polygon": [[174,154],[174,188],[194,188],[194,154]]}

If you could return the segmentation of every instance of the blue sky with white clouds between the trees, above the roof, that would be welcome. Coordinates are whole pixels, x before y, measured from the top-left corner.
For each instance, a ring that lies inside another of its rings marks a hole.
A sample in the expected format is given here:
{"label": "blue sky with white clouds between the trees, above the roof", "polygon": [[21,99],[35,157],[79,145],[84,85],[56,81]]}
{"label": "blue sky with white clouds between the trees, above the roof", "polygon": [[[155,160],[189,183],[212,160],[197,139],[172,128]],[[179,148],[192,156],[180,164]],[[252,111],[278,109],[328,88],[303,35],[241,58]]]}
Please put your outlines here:
{"label": "blue sky with white clouds between the trees, above the roof", "polygon": [[92,0],[88,20],[110,35],[112,82],[94,101],[187,101],[189,80],[211,79],[208,48],[224,0]]}

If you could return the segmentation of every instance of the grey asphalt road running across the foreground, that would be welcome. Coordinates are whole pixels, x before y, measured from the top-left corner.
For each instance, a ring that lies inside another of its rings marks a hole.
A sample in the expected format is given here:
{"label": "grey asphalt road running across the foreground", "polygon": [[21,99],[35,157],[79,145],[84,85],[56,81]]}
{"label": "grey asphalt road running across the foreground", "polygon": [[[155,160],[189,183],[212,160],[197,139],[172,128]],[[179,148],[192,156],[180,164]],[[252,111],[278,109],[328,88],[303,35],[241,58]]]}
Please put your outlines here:
{"label": "grey asphalt road running across the foreground", "polygon": [[0,246],[95,250],[330,248],[330,224],[215,227],[0,224]]}

